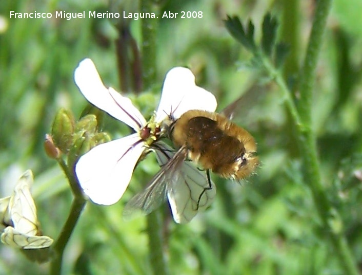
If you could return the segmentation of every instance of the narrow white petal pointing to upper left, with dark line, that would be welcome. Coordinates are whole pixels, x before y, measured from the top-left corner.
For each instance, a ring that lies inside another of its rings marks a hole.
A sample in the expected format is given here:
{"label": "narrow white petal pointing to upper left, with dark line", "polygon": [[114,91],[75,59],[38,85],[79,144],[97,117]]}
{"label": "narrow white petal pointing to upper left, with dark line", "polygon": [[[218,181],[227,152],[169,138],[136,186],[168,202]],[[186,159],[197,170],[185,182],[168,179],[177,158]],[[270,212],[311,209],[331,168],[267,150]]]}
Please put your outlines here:
{"label": "narrow white petal pointing to upper left, with dark line", "polygon": [[145,118],[129,98],[120,95],[113,88],[104,86],[92,60],[87,58],[79,63],[74,71],[74,81],[90,103],[134,130],[139,130],[146,124]]}

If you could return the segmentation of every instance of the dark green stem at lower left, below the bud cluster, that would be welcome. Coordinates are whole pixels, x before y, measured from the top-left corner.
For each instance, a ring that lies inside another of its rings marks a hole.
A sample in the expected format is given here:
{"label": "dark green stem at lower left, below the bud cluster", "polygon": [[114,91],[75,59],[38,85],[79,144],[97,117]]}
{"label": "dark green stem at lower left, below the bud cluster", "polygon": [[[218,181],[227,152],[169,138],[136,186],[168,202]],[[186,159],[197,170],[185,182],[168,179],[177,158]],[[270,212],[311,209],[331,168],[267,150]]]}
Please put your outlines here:
{"label": "dark green stem at lower left, below the bud cluster", "polygon": [[50,274],[61,274],[62,270],[62,260],[64,249],[69,241],[69,238],[75,228],[75,225],[78,221],[79,216],[86,204],[84,198],[75,197],[73,199],[72,206],[70,208],[69,216],[66,223],[63,226],[61,234],[53,245],[53,260],[50,263]]}

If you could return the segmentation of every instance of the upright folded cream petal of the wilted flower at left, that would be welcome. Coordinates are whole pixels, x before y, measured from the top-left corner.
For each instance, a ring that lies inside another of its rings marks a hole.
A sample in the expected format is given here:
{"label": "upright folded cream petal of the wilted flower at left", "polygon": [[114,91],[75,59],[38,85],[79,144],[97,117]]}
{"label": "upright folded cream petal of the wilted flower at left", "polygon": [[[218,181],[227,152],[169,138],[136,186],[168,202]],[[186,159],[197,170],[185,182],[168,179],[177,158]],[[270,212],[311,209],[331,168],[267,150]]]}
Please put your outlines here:
{"label": "upright folded cream petal of the wilted flower at left", "polygon": [[34,199],[30,193],[33,174],[27,170],[18,180],[13,196],[10,197],[9,209],[14,228],[23,234],[35,236],[38,231]]}

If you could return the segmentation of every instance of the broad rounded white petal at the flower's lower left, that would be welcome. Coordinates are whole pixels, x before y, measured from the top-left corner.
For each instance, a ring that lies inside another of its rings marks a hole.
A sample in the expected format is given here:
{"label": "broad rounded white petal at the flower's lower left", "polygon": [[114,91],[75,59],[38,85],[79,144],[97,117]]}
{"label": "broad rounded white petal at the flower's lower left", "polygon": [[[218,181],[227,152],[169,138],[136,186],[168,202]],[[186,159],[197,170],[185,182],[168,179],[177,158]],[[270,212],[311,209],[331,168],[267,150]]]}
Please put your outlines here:
{"label": "broad rounded white petal at the flower's lower left", "polygon": [[96,204],[115,204],[126,191],[144,149],[137,133],[95,146],[75,166],[84,193]]}

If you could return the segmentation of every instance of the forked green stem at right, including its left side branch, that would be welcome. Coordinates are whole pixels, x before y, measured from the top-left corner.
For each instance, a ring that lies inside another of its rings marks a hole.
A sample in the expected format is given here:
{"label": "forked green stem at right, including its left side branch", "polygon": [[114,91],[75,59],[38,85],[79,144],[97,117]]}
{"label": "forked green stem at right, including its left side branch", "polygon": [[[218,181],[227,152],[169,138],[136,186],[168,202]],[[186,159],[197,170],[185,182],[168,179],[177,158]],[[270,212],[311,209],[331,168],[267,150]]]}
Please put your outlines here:
{"label": "forked green stem at right, including its left side branch", "polygon": [[304,67],[300,75],[300,101],[298,109],[294,104],[294,100],[291,96],[292,93],[280,72],[276,70],[267,58],[263,57],[262,59],[269,75],[274,77],[276,83],[279,85],[281,93],[283,93],[285,98],[287,109],[297,126],[299,148],[304,160],[305,182],[311,189],[314,205],[323,226],[323,231],[334,246],[335,254],[340,262],[341,268],[344,269],[345,274],[358,274],[358,269],[353,254],[348,246],[346,236],[341,232],[334,232],[329,224],[331,214],[333,213],[333,207],[326,196],[325,189],[321,182],[316,137],[311,127],[314,75],[330,6],[331,0],[319,0],[317,2]]}

